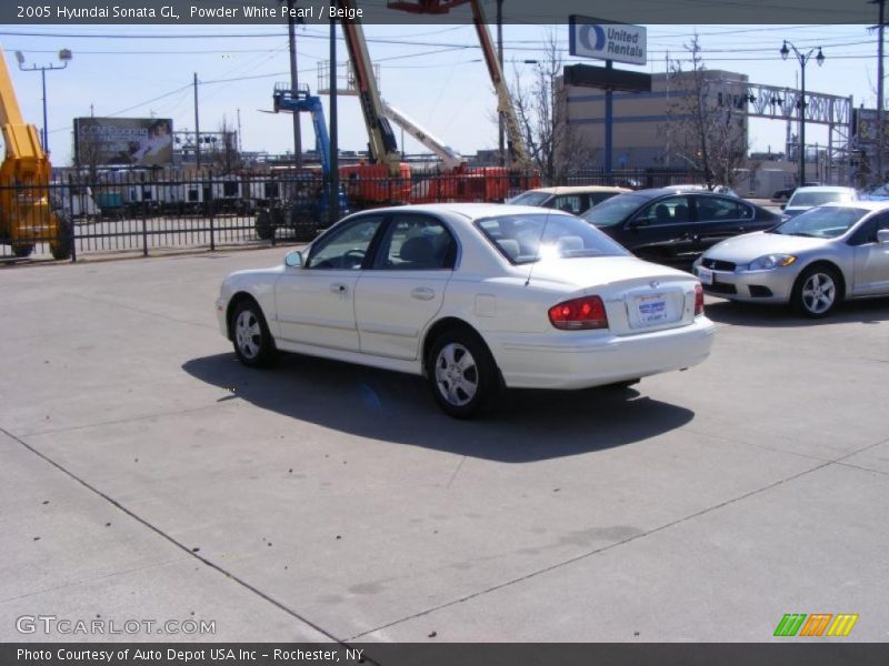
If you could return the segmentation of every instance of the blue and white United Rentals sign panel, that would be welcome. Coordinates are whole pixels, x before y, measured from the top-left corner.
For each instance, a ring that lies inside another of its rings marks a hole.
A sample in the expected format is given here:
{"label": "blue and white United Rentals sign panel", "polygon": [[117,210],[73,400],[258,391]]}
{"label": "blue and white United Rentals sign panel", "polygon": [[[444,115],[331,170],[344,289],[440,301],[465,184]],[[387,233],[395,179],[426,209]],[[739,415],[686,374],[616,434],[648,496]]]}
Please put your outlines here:
{"label": "blue and white United Rentals sign panel", "polygon": [[648,33],[642,26],[602,22],[577,14],[568,18],[568,24],[571,56],[630,64],[648,62]]}

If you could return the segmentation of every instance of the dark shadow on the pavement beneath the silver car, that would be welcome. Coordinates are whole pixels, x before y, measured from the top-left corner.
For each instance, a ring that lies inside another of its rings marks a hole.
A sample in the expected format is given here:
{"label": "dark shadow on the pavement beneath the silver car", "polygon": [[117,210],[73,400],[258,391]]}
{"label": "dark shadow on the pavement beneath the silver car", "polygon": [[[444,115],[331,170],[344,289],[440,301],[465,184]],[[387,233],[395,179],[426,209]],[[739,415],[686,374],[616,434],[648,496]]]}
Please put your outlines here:
{"label": "dark shadow on the pavement beneath the silver car", "polygon": [[736,326],[787,329],[848,323],[878,324],[889,321],[889,299],[848,301],[840,304],[830,316],[825,319],[802,316],[788,305],[760,305],[723,300],[712,303],[708,300],[705,312],[715,322]]}

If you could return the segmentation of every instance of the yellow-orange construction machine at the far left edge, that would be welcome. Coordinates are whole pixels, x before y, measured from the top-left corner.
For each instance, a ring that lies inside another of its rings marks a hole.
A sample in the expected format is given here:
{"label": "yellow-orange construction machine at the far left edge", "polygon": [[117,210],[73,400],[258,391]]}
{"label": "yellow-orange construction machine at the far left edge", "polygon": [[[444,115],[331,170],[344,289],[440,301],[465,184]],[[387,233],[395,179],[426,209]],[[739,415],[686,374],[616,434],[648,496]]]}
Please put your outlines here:
{"label": "yellow-orange construction machine at the far left edge", "polygon": [[0,50],[0,125],[6,158],[0,164],[0,241],[16,256],[28,256],[49,241],[53,259],[71,256],[71,222],[50,206],[51,167],[37,128],[26,123],[19,108],[6,57]]}

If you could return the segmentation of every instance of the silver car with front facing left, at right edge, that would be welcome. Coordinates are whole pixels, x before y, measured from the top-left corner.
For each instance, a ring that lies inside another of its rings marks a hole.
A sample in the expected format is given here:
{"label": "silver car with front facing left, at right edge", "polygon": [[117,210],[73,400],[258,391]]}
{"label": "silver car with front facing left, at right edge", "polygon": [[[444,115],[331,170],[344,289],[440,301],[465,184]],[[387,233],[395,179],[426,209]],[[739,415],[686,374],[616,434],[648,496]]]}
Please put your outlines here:
{"label": "silver car with front facing left, at right edge", "polygon": [[843,299],[889,295],[889,202],[830,203],[728,239],[695,262],[703,291],[827,316]]}

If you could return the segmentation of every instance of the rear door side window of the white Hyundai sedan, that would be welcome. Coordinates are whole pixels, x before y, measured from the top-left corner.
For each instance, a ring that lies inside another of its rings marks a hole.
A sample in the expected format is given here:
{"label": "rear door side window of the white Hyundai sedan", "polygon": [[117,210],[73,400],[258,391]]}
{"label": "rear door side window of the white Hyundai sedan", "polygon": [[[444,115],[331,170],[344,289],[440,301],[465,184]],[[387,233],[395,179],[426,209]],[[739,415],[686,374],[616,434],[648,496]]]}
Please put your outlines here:
{"label": "rear door side window of the white Hyundai sedan", "polygon": [[380,243],[378,271],[438,271],[453,269],[457,242],[434,218],[399,214]]}

